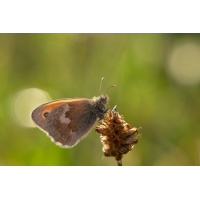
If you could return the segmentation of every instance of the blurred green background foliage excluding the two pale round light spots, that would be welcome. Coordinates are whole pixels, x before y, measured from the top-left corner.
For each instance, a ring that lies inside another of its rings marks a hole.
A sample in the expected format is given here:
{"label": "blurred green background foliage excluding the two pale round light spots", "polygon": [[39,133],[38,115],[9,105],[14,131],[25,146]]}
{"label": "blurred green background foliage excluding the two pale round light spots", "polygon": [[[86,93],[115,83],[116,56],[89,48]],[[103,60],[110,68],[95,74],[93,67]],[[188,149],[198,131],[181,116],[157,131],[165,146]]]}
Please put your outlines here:
{"label": "blurred green background foliage excluding the two pale round light spots", "polygon": [[[92,130],[62,149],[38,128],[14,119],[15,95],[39,88],[52,99],[99,95],[142,137],[123,165],[199,165],[200,84],[178,83],[168,73],[176,43],[200,34],[0,34],[0,165],[117,165],[103,157]],[[27,103],[29,100],[27,100]]]}

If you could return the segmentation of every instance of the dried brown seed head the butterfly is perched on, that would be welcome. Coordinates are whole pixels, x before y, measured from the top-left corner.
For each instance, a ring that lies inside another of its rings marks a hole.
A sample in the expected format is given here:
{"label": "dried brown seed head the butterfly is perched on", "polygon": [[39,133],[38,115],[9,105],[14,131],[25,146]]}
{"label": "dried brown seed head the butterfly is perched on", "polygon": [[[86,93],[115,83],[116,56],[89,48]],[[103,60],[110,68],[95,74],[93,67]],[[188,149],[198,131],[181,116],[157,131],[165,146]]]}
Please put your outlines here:
{"label": "dried brown seed head the butterfly is perched on", "polygon": [[118,165],[121,166],[123,154],[131,151],[133,146],[138,143],[138,137],[141,137],[138,130],[141,127],[132,128],[126,123],[124,117],[119,115],[116,107],[108,110],[106,119],[95,128],[95,131],[101,134],[104,155],[115,157]]}

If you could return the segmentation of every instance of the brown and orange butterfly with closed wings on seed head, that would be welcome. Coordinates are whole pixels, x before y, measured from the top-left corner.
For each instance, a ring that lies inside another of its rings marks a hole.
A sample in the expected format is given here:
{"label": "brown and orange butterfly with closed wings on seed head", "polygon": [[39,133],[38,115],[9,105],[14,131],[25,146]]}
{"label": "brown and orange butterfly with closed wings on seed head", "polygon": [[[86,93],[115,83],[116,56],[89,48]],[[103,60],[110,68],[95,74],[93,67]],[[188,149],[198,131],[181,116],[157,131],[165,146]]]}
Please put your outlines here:
{"label": "brown and orange butterfly with closed wings on seed head", "polygon": [[50,101],[33,110],[32,120],[57,145],[71,148],[90,132],[97,120],[104,118],[108,111],[105,107],[108,95],[104,93],[93,99],[69,98]]}

